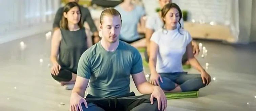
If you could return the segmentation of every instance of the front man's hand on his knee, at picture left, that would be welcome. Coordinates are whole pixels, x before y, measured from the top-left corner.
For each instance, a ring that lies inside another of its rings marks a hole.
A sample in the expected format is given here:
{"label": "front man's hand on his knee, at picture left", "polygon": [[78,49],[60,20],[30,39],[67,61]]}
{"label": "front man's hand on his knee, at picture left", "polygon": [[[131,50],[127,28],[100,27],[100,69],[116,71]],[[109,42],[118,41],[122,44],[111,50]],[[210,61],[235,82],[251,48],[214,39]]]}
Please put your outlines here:
{"label": "front man's hand on his knee, at picture left", "polygon": [[87,102],[84,98],[79,96],[77,93],[72,93],[70,97],[70,111],[83,111],[82,104],[88,108]]}

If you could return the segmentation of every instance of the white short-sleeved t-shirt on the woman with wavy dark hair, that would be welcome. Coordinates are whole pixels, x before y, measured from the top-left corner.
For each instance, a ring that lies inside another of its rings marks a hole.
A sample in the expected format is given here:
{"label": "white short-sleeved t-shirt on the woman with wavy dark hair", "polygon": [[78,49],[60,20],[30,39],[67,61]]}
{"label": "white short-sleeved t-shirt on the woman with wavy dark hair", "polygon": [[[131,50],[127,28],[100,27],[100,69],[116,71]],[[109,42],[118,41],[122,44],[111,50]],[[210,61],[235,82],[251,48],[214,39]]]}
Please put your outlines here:
{"label": "white short-sleeved t-shirt on the woman with wavy dark hair", "polygon": [[183,72],[182,57],[186,46],[192,41],[184,29],[155,31],[150,39],[159,46],[156,60],[157,73]]}

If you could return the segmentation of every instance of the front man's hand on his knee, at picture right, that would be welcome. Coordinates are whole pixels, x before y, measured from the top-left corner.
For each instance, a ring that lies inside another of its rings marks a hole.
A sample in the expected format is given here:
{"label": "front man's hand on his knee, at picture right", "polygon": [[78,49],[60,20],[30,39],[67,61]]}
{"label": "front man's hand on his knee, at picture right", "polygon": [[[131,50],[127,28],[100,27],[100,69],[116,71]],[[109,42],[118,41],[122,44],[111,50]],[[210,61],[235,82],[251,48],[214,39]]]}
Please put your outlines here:
{"label": "front man's hand on his knee, at picture right", "polygon": [[153,104],[154,98],[157,99],[158,110],[160,110],[162,106],[162,111],[165,111],[167,107],[167,99],[164,91],[159,86],[155,86],[154,91],[150,96],[151,104]]}

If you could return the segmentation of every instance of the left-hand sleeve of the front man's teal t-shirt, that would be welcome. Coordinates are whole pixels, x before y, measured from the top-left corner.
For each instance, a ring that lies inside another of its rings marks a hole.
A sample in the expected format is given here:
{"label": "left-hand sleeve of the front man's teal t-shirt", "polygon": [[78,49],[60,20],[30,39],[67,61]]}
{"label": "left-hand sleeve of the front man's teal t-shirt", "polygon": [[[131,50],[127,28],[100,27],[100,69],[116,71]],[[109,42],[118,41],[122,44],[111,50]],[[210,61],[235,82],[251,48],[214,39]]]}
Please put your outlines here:
{"label": "left-hand sleeve of the front man's teal t-shirt", "polygon": [[78,69],[77,69],[77,76],[90,79],[91,77],[91,63],[88,52],[84,52],[79,59],[78,62]]}

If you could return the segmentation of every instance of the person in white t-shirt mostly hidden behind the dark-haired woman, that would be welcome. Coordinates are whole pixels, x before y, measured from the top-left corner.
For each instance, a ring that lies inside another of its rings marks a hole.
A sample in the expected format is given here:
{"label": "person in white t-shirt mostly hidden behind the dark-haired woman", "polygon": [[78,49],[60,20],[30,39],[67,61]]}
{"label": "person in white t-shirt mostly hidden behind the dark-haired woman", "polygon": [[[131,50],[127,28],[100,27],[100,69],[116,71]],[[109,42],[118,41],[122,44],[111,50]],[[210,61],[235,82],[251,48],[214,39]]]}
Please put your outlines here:
{"label": "person in white t-shirt mostly hidden behind the dark-haired woman", "polygon": [[[158,0],[159,1],[159,5],[160,5],[160,8],[163,8],[165,4],[167,3],[171,3],[172,0]],[[184,21],[183,21],[183,18],[180,19],[180,24],[177,24],[177,27],[179,28],[182,28],[184,29]],[[144,56],[145,56],[145,59],[146,61],[148,62],[148,59],[149,59],[149,44],[150,44],[150,37],[152,36],[153,32],[154,31],[157,31],[161,28],[163,28],[163,21],[162,21],[162,18],[161,18],[161,12],[156,12],[152,15],[149,15],[147,17],[147,21],[146,21],[146,32],[145,32],[145,36],[146,36],[146,46],[147,46],[147,50],[146,52],[144,53]],[[199,46],[198,44],[195,42],[195,41],[192,41],[192,46],[193,46],[193,53],[194,53],[194,56],[197,57],[198,56],[198,53],[199,53]],[[189,65],[190,63],[188,62],[188,59],[186,57],[186,53],[184,54],[183,58],[182,58],[182,63],[183,65]]]}

